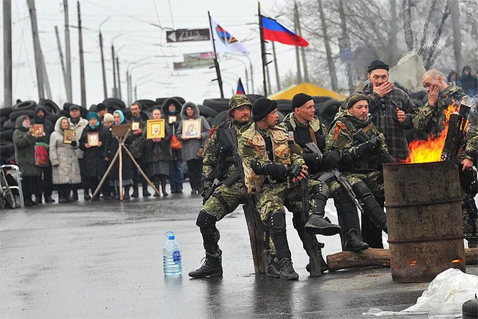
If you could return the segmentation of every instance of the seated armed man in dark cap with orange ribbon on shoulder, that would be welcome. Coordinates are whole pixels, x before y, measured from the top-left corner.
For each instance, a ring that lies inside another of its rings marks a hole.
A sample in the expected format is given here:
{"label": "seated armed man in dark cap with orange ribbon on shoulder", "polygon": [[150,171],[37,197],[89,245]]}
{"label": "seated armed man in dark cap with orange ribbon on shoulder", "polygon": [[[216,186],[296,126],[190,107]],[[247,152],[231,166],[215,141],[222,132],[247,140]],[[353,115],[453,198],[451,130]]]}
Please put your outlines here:
{"label": "seated armed man in dark cap with orange ribbon on shoulder", "polygon": [[[384,161],[382,158],[390,158],[385,139],[371,122],[366,95],[351,94],[346,106],[347,110],[341,110],[331,124],[326,137],[327,149],[340,152],[339,169],[352,185],[364,213],[377,228],[387,232],[387,218],[378,203],[384,198],[380,163]],[[363,132],[367,141],[356,143],[356,133]],[[339,187],[336,180],[330,185],[332,192]],[[366,238],[363,240],[367,242]]]}

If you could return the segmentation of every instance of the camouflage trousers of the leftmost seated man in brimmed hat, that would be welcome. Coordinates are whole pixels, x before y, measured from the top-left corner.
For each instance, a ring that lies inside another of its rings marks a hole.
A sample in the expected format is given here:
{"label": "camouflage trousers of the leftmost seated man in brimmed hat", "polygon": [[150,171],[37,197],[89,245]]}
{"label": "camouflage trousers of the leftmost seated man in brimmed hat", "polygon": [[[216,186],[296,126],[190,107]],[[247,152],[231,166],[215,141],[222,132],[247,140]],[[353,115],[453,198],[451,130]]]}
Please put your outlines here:
{"label": "camouflage trousers of the leftmost seated man in brimmed hat", "polygon": [[[203,210],[211,215],[216,217],[216,220],[219,221],[224,218],[224,216],[232,213],[238,206],[245,201],[245,186],[241,181],[233,183],[231,186],[226,186],[224,184],[220,185],[214,191],[213,195],[208,198],[208,200],[203,205]],[[219,258],[222,255],[222,251],[219,248],[219,239],[221,235],[219,230],[214,226],[214,246],[215,253],[211,254],[206,252],[207,255],[211,257]]]}

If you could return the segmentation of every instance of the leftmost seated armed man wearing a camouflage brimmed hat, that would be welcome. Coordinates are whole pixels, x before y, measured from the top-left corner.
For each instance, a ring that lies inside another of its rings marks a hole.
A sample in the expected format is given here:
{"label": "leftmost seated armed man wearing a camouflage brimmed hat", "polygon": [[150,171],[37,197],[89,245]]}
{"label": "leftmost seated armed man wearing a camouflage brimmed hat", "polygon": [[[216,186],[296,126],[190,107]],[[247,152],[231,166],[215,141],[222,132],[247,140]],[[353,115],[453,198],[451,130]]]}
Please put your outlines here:
{"label": "leftmost seated armed man wearing a camouflage brimmed hat", "polygon": [[[250,125],[251,103],[245,95],[235,95],[229,101],[229,118],[217,128],[213,127],[203,159],[204,205],[196,225],[201,230],[206,261],[190,277],[222,276],[222,251],[216,222],[233,212],[245,201],[245,186],[241,180],[234,153],[238,150],[239,132]],[[217,179],[218,184],[213,184]]]}

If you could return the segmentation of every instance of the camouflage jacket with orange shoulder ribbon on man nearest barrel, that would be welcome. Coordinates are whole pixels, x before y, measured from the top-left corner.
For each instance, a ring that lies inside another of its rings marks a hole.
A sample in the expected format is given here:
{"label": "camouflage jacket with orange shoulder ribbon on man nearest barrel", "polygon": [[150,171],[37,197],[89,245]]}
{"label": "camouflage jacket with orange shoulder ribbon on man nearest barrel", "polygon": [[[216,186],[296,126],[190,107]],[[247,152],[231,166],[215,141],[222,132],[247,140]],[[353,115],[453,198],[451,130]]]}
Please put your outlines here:
{"label": "camouflage jacket with orange shoulder ribbon on man nearest barrel", "polygon": [[344,164],[344,159],[354,151],[357,147],[354,141],[354,134],[363,129],[369,136],[378,136],[381,140],[381,148],[388,153],[385,138],[382,133],[378,132],[373,125],[371,118],[367,121],[359,121],[348,110],[340,110],[337,113],[334,122],[331,124],[329,134],[326,136],[327,150],[338,151],[341,154],[341,161],[339,162],[339,169],[342,171],[372,171],[377,170],[380,163],[380,150],[368,158],[359,159],[355,161],[354,165]]}

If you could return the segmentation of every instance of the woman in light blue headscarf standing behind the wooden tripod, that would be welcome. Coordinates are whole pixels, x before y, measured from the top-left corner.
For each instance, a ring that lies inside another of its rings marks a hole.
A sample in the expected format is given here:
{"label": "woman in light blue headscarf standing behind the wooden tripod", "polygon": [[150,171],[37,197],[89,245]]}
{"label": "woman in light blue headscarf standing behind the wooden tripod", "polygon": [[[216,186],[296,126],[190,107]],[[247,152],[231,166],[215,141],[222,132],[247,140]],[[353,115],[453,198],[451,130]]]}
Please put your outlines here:
{"label": "woman in light blue headscarf standing behind the wooden tripod", "polygon": [[[124,118],[124,114],[120,110],[116,110],[113,112],[113,118],[115,123],[113,124],[112,128],[116,125],[127,124],[126,119]],[[122,138],[119,138],[122,139]],[[129,136],[124,144],[127,146],[131,144],[132,137]],[[109,147],[109,160],[113,160],[119,148],[118,138],[113,133],[113,137],[111,138],[111,143]],[[122,184],[124,187],[124,194],[123,199],[129,199],[129,188],[133,184],[133,163],[129,158],[126,151],[121,149],[121,157],[122,157]],[[113,169],[110,172],[110,185],[116,188],[116,199],[119,199],[120,189],[119,189],[119,159],[116,160],[115,165],[113,165]]]}

